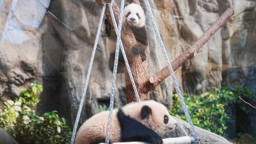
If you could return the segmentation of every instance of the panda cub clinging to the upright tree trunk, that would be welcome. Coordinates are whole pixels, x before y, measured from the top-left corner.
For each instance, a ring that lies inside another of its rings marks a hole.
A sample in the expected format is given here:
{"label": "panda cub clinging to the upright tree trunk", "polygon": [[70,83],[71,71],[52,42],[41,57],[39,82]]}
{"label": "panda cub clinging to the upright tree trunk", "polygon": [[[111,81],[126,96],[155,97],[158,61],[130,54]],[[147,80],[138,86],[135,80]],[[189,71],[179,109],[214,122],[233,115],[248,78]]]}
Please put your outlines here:
{"label": "panda cub clinging to the upright tree trunk", "polygon": [[[148,46],[148,35],[145,26],[145,12],[139,4],[129,4],[124,8],[123,14],[126,17],[126,22],[132,29],[137,41],[137,43],[133,45],[132,52],[134,55],[140,54],[142,61],[145,61],[147,58],[145,51]],[[108,19],[105,19],[105,31],[107,36],[106,47],[109,56],[109,69],[113,72],[117,36],[114,29],[110,26]],[[123,73],[125,63],[121,51],[118,60],[117,73]]]}

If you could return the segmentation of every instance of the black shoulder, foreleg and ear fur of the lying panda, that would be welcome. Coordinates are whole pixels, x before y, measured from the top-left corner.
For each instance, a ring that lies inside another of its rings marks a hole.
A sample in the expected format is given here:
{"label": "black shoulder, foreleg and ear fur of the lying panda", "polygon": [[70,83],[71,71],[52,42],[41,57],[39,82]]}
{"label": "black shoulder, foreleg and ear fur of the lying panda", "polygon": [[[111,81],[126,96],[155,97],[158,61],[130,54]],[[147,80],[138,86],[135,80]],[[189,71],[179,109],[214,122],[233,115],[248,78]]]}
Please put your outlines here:
{"label": "black shoulder, foreleg and ear fur of the lying panda", "polygon": [[[148,113],[148,108],[145,107],[142,111],[144,110],[147,111],[147,116],[151,114]],[[131,117],[126,116],[122,109],[118,109],[117,119],[121,127],[121,142],[144,141],[152,144],[163,144],[162,138],[156,132]]]}

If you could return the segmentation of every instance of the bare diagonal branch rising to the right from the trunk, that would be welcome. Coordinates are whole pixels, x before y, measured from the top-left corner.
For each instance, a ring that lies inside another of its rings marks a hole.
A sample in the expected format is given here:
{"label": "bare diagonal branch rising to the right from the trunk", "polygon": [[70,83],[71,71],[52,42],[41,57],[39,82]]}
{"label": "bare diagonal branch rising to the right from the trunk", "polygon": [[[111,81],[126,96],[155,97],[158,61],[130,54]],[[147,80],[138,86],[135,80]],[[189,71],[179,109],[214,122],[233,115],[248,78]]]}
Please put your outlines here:
{"label": "bare diagonal branch rising to the right from the trunk", "polygon": [[[229,18],[234,15],[234,11],[231,8],[228,8],[213,24],[208,28],[206,32],[191,46],[187,51],[183,52],[178,56],[174,61],[171,62],[173,70],[177,70],[183,63],[187,62],[191,58],[195,58],[197,52],[203,45],[212,37],[221,28]],[[160,70],[157,74],[149,77],[145,86],[147,86],[146,92],[149,92],[159,83],[161,83],[165,78],[170,75],[170,71],[167,66]]]}

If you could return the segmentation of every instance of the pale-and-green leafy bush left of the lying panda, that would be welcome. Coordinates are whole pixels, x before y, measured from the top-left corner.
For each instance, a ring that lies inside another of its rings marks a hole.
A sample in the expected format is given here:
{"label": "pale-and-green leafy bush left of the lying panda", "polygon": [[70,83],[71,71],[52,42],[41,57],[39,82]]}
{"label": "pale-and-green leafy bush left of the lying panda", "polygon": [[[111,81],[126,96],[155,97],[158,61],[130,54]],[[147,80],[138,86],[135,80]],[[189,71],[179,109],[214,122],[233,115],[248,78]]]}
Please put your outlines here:
{"label": "pale-and-green leafy bush left of the lying panda", "polygon": [[57,111],[47,112],[40,117],[32,110],[39,102],[36,94],[41,93],[43,87],[36,81],[30,86],[29,90],[21,89],[19,98],[4,102],[3,110],[0,109],[0,127],[20,144],[68,144],[72,132],[65,119],[57,115]]}

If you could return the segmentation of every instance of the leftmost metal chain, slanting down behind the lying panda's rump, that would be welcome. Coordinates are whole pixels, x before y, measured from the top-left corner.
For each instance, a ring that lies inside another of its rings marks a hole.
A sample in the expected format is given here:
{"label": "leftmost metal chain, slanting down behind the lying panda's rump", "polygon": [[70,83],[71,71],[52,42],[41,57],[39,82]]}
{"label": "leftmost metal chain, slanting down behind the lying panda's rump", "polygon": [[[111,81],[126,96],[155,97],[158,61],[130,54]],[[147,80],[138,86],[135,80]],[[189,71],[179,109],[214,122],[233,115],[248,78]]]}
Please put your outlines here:
{"label": "leftmost metal chain, slanting down behind the lying panda's rump", "polygon": [[96,35],[94,46],[93,46],[93,52],[91,54],[91,60],[90,60],[89,69],[88,69],[88,72],[87,72],[85,86],[84,86],[84,92],[83,92],[83,96],[81,98],[80,105],[79,105],[79,108],[78,108],[78,112],[77,112],[77,115],[76,115],[76,121],[75,121],[74,129],[73,129],[73,132],[72,132],[72,137],[71,137],[70,144],[74,144],[74,140],[75,140],[75,135],[76,135],[76,130],[77,130],[79,118],[81,116],[81,112],[82,112],[82,108],[83,108],[83,103],[84,103],[84,99],[85,99],[85,96],[86,96],[87,87],[88,87],[88,84],[89,84],[89,79],[90,79],[90,75],[91,75],[91,69],[93,67],[95,51],[97,49],[97,44],[98,44],[99,34],[100,34],[100,31],[101,31],[101,26],[102,26],[102,22],[103,22],[103,16],[104,16],[105,8],[106,8],[106,3],[104,2],[104,5],[103,5],[102,11],[101,11],[101,17],[99,19],[99,27],[98,27],[98,30],[97,30],[97,35]]}

